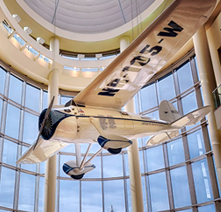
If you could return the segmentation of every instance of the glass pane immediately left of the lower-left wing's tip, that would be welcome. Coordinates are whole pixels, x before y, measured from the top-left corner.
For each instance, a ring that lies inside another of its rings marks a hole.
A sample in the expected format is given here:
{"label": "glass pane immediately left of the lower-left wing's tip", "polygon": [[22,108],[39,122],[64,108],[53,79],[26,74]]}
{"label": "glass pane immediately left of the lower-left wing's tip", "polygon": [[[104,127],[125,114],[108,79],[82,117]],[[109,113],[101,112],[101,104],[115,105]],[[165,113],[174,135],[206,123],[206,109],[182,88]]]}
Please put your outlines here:
{"label": "glass pane immediately left of the lower-left wing's tip", "polygon": [[16,166],[17,159],[17,144],[4,140],[2,161],[4,163]]}

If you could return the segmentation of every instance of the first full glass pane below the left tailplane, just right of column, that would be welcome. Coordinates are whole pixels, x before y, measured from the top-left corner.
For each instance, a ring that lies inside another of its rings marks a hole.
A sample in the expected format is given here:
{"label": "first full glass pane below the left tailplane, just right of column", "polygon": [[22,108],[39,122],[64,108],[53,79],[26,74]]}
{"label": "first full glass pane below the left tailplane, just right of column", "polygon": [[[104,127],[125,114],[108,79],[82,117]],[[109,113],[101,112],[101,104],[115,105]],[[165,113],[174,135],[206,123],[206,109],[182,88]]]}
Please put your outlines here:
{"label": "first full glass pane below the left tailplane, just right of column", "polygon": [[147,156],[147,170],[149,172],[165,167],[162,145],[147,149],[145,151]]}

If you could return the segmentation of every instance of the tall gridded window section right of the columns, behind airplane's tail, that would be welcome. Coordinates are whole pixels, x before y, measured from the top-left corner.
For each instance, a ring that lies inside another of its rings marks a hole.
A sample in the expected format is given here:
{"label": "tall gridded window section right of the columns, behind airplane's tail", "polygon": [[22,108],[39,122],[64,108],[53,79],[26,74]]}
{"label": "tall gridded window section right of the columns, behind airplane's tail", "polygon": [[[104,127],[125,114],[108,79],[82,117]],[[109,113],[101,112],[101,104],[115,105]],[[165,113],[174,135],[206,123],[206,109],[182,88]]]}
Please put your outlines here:
{"label": "tall gridded window section right of the columns, behind airplane's tail", "polygon": [[[181,115],[203,106],[196,59],[192,55],[177,62],[163,77],[138,93],[140,114],[159,118],[158,106],[164,99]],[[148,137],[142,139],[140,153],[145,161],[141,168],[144,166],[146,170],[142,174],[145,176],[143,198],[148,208],[145,211],[215,212],[219,193],[207,123],[204,119],[179,132],[178,137],[149,148],[145,146]]]}

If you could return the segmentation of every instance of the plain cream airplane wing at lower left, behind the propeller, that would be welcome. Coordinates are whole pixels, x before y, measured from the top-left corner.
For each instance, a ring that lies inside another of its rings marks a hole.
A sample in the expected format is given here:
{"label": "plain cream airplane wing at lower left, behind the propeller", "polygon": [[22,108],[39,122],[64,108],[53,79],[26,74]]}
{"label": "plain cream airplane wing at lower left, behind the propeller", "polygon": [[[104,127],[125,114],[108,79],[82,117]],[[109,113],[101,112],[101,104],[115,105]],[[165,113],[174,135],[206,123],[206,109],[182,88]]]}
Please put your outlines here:
{"label": "plain cream airplane wing at lower left, behind the propeller", "polygon": [[[36,145],[37,143],[37,145]],[[55,139],[44,140],[41,137],[17,160],[17,163],[41,163],[69,145]]]}

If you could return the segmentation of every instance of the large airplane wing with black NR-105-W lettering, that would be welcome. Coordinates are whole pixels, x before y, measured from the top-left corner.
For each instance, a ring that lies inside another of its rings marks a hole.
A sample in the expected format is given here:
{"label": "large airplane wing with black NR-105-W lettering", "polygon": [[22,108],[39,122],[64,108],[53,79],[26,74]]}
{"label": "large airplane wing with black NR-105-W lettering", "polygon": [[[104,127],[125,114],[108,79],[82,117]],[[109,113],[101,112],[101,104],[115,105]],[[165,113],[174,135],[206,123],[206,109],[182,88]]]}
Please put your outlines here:
{"label": "large airplane wing with black NR-105-W lettering", "polygon": [[175,0],[74,102],[122,108],[207,21],[215,4]]}

